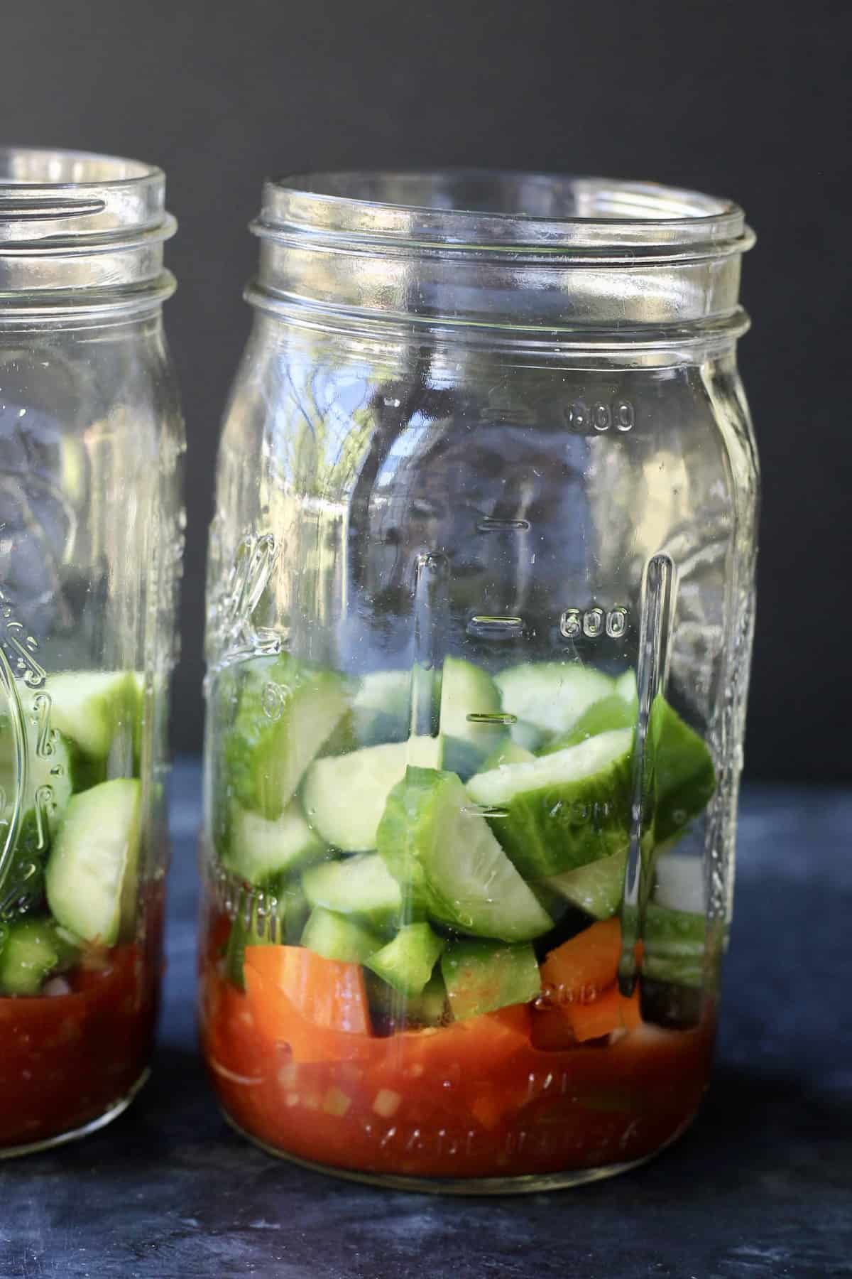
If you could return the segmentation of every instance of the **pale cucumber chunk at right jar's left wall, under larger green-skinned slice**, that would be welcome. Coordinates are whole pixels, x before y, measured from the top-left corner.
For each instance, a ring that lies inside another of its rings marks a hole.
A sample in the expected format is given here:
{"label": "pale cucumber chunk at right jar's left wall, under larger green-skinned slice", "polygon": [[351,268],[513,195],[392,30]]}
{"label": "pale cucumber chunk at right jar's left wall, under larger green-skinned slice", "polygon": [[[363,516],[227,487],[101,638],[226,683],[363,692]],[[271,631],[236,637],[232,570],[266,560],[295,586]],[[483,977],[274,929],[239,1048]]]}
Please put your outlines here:
{"label": "pale cucumber chunk at right jar's left wall, under larger green-skinned slice", "polygon": [[326,845],[308,825],[298,799],[291,799],[273,821],[234,804],[221,862],[248,884],[266,885],[287,871],[319,861],[324,852]]}

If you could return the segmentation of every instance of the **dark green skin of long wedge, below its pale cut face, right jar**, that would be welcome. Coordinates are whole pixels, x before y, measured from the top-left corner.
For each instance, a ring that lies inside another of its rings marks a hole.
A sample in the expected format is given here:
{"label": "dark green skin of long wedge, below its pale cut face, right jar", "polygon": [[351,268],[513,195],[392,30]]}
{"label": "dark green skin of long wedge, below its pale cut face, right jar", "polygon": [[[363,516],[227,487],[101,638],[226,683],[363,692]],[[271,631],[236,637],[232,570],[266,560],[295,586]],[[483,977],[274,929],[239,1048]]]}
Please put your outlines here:
{"label": "dark green skin of long wedge, below its pale cut face, right jar", "polygon": [[[581,749],[581,744],[568,749]],[[525,879],[548,879],[627,847],[631,753],[626,751],[593,778],[548,783],[499,803],[506,816],[488,820]],[[479,798],[474,784],[470,793]]]}

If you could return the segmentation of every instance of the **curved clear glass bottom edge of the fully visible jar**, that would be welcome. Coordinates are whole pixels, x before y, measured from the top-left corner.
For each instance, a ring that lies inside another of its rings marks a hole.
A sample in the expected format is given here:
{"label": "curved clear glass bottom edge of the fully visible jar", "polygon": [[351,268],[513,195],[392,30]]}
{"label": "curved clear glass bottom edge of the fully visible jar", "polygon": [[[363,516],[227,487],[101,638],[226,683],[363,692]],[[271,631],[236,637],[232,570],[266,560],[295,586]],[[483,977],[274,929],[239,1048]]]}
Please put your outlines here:
{"label": "curved clear glass bottom edge of the fully visible jar", "polygon": [[253,1136],[241,1128],[235,1119],[229,1115],[224,1106],[220,1110],[226,1123],[240,1137],[258,1146],[267,1155],[284,1159],[289,1164],[307,1168],[312,1173],[326,1173],[330,1177],[339,1177],[346,1182],[360,1182],[363,1186],[376,1186],[390,1191],[413,1191],[416,1195],[538,1195],[542,1191],[565,1191],[572,1186],[588,1186],[589,1182],[603,1182],[609,1177],[620,1177],[621,1173],[630,1173],[634,1168],[641,1168],[650,1163],[657,1155],[667,1150],[681,1137],[692,1124],[695,1115],[690,1115],[681,1127],[657,1150],[641,1159],[631,1159],[623,1164],[607,1164],[603,1168],[576,1168],[565,1173],[524,1174],[521,1177],[396,1177],[391,1173],[359,1173],[350,1168],[335,1168],[333,1164],[317,1164],[310,1159],[301,1159],[299,1155],[290,1155],[286,1150],[270,1146],[259,1137]]}

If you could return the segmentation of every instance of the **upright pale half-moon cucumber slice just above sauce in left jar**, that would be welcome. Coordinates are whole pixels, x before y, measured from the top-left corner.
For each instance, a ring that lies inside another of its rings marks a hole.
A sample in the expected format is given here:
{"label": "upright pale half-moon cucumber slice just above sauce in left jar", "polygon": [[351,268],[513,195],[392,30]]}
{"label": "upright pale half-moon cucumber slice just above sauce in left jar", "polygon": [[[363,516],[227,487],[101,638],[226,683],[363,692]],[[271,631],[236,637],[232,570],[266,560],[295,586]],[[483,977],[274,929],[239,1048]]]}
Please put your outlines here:
{"label": "upright pale half-moon cucumber slice just above sauce in left jar", "polygon": [[102,781],[73,796],[47,861],[55,920],[86,941],[114,945],[133,931],[141,783]]}

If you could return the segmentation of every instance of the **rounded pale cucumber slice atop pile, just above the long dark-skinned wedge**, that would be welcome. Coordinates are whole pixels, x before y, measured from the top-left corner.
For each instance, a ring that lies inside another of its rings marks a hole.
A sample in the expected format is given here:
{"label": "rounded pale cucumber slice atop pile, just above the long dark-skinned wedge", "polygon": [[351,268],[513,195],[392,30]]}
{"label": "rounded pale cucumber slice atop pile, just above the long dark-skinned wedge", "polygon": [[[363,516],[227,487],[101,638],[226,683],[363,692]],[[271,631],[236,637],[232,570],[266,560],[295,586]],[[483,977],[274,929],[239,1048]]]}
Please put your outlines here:
{"label": "rounded pale cucumber slice atop pile, just above the long dark-skinned wedge", "polygon": [[[574,728],[593,702],[612,693],[612,679],[579,663],[540,661],[510,666],[496,677],[503,710],[533,724],[543,738]],[[522,733],[524,730],[521,730]],[[529,746],[512,726],[512,738]],[[531,747],[534,748],[534,747]]]}

